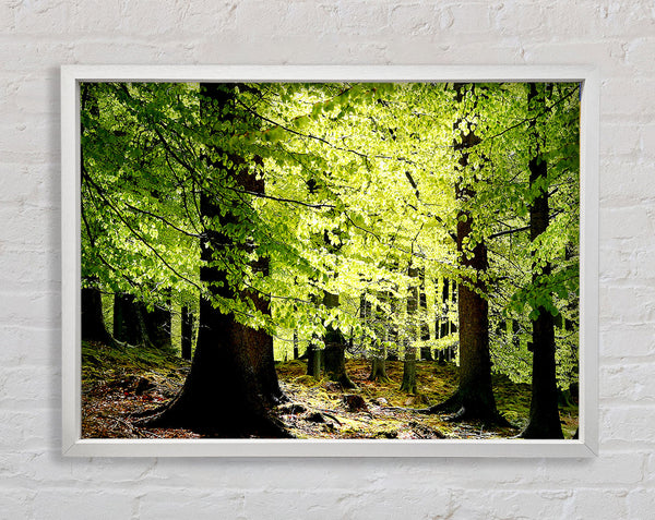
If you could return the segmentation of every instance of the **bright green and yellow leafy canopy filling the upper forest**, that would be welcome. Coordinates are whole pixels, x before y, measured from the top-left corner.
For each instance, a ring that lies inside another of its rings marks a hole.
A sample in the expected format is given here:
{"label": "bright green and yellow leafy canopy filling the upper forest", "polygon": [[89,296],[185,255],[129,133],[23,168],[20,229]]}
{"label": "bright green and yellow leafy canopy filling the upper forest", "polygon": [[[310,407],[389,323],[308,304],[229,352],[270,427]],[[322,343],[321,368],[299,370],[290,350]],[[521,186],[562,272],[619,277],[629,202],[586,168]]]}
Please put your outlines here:
{"label": "bright green and yellow leafy canopy filling the upper forest", "polygon": [[[432,347],[452,342],[433,323],[439,280],[477,280],[490,302],[495,368],[528,380],[529,321],[550,312],[577,327],[577,85],[538,87],[541,107],[528,106],[517,83],[465,85],[460,100],[445,84],[230,84],[219,88],[234,101],[222,105],[196,84],[84,83],[84,282],[151,305],[203,294],[277,337],[296,330],[307,344],[333,327],[366,350],[418,344],[424,323]],[[453,143],[473,130],[479,143],[463,166]],[[537,145],[548,174],[531,184]],[[245,178],[263,179],[265,193]],[[531,241],[528,208],[545,191],[552,218]],[[201,195],[221,216],[203,217]],[[485,273],[458,265],[452,237],[464,219],[474,227],[463,253],[485,242]],[[231,297],[200,281],[206,233],[231,244],[209,262],[226,273]],[[255,267],[262,257],[267,274]],[[551,273],[533,280],[546,263]],[[425,309],[407,310],[413,290],[426,294]],[[326,292],[340,306],[323,303]],[[270,298],[271,316],[253,293]],[[362,317],[362,294],[374,317]],[[558,330],[565,387],[576,335]]]}

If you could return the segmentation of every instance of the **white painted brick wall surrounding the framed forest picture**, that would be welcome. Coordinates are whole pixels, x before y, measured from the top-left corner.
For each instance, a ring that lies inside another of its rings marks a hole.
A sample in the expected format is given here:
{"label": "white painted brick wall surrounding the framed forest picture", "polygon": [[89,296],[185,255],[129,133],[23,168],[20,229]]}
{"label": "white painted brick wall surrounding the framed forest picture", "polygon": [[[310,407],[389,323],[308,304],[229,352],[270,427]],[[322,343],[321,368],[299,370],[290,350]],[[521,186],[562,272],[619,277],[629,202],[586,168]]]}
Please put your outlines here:
{"label": "white painted brick wall surrounding the framed forest picture", "polygon": [[[655,518],[651,0],[3,0],[0,518]],[[600,457],[62,459],[63,63],[593,63],[602,76]]]}

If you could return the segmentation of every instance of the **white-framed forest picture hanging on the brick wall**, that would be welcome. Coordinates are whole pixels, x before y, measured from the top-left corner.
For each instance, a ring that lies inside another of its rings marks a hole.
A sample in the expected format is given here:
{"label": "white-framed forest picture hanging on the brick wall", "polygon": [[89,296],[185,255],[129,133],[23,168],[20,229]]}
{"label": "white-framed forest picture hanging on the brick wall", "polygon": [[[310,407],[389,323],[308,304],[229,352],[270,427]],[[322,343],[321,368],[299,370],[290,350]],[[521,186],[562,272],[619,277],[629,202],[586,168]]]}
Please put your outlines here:
{"label": "white-framed forest picture hanging on the brick wall", "polygon": [[63,454],[595,455],[598,89],[62,66]]}

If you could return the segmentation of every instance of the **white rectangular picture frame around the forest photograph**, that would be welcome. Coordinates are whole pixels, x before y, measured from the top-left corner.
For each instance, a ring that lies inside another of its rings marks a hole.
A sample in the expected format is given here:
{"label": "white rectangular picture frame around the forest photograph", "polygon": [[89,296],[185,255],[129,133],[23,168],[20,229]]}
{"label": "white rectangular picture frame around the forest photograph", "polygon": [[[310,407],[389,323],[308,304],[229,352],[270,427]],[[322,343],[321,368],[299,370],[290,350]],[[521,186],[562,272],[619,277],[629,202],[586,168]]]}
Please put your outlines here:
{"label": "white rectangular picture frame around the forest photograph", "polygon": [[[81,82],[580,82],[580,438],[567,440],[87,439],[81,437]],[[62,455],[75,457],[591,457],[598,454],[598,121],[593,66],[63,65]]]}

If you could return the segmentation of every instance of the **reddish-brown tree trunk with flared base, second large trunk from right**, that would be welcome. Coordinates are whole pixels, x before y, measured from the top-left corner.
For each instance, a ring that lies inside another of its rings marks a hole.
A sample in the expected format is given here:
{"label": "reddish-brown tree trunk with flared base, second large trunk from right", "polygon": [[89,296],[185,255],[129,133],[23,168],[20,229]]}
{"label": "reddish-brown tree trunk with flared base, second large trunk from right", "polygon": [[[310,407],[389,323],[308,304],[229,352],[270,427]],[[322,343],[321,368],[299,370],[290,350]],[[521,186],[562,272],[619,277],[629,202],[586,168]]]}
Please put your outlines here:
{"label": "reddish-brown tree trunk with flared base, second large trunk from right", "polygon": [[[468,90],[465,85],[455,84],[457,101]],[[461,128],[462,121],[455,123]],[[475,134],[475,125],[465,121],[468,132],[460,131],[454,147],[460,153],[461,170],[468,168],[468,148],[480,142]],[[456,411],[455,419],[475,419],[486,423],[507,423],[498,413],[496,399],[491,388],[491,359],[489,354],[489,304],[479,293],[485,294],[487,288],[484,275],[487,270],[487,246],[483,239],[473,250],[467,242],[473,232],[473,216],[466,210],[468,201],[475,197],[475,189],[471,184],[457,182],[456,197],[463,203],[457,215],[457,252],[460,265],[473,269],[476,275],[464,278],[458,285],[457,311],[460,319],[460,382],[456,392],[431,411]]]}

